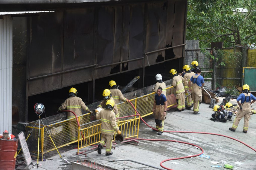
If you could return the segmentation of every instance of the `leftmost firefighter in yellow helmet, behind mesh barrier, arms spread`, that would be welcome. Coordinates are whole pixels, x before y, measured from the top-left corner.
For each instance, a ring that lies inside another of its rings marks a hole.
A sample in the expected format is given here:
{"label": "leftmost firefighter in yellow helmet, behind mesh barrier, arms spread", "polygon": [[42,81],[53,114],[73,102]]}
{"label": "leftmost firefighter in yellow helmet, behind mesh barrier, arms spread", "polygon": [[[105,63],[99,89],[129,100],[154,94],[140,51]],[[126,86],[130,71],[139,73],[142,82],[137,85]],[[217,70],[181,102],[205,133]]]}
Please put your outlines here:
{"label": "leftmost firefighter in yellow helmet, behind mesh barrier, arms spread", "polygon": [[[75,88],[69,89],[69,98],[67,98],[64,103],[61,104],[61,106],[58,108],[58,112],[62,111],[64,109],[70,110],[76,114],[76,116],[82,115],[82,109],[84,109],[87,112],[90,112],[90,109],[84,104],[82,99],[80,97],[77,97],[77,90]],[[75,118],[75,115],[71,112],[67,113],[67,119]],[[70,128],[70,140],[76,140],[76,119],[73,119],[71,123],[69,124]]]}

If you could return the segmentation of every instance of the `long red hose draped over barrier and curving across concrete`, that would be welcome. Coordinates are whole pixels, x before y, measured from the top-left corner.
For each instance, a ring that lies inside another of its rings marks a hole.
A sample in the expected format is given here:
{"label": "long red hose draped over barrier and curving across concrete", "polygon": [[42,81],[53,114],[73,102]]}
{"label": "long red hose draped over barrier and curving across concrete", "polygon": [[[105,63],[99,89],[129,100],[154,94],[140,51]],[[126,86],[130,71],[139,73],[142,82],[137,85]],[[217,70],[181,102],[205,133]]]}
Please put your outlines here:
{"label": "long red hose draped over barrier and curving across concrete", "polygon": [[[130,100],[128,100],[128,101],[129,101],[129,103],[131,104],[131,106],[133,106],[133,103],[131,103]],[[136,112],[137,114],[139,114],[134,106],[133,106],[133,109],[135,110],[135,112]],[[148,125],[142,118],[140,118],[140,119],[141,119],[148,127],[152,128],[152,129],[154,129],[154,130],[157,130],[157,129],[151,127],[150,125]],[[171,132],[171,133],[199,133],[199,134],[211,134],[211,135],[216,135],[216,136],[223,136],[223,137],[227,137],[227,138],[229,138],[229,139],[236,140],[237,142],[240,142],[240,143],[244,144],[245,146],[247,146],[248,148],[251,148],[253,151],[256,152],[256,149],[254,149],[253,147],[247,145],[246,143],[244,143],[244,142],[242,142],[242,141],[240,141],[240,140],[238,140],[238,139],[235,139],[235,138],[233,138],[233,137],[229,137],[229,136],[222,135],[222,134],[207,133],[207,132],[192,132],[192,131],[168,131],[168,130],[165,130],[164,132]],[[194,144],[192,144],[192,143],[181,142],[181,141],[176,141],[176,140],[164,140],[164,139],[163,139],[163,140],[161,140],[161,139],[138,139],[138,140],[170,141],[170,142],[179,142],[179,143],[184,143],[184,144],[187,144],[187,145],[197,146],[197,145],[194,145]],[[187,156],[187,157],[170,158],[170,159],[167,159],[167,160],[163,160],[163,161],[160,163],[160,166],[163,167],[164,169],[172,170],[172,169],[169,169],[169,168],[163,166],[162,164],[163,164],[164,162],[166,162],[166,161],[179,160],[179,159],[190,158],[190,157],[197,157],[197,156],[203,154],[203,152],[204,152],[203,149],[202,149],[200,146],[197,146],[197,147],[200,148],[201,151],[202,151],[200,154],[192,155],[192,156]]]}

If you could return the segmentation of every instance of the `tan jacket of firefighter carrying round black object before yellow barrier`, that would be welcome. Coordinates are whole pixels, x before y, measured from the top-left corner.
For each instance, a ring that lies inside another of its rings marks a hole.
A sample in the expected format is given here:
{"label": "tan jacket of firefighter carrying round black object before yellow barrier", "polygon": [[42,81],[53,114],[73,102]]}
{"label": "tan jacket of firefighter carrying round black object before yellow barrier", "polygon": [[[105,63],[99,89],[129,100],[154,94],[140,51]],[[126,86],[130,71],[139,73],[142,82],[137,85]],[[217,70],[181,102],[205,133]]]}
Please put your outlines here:
{"label": "tan jacket of firefighter carrying round black object before yellow barrier", "polygon": [[110,109],[103,109],[96,113],[96,119],[101,119],[101,133],[113,135],[114,131],[119,131],[116,125],[115,113]]}

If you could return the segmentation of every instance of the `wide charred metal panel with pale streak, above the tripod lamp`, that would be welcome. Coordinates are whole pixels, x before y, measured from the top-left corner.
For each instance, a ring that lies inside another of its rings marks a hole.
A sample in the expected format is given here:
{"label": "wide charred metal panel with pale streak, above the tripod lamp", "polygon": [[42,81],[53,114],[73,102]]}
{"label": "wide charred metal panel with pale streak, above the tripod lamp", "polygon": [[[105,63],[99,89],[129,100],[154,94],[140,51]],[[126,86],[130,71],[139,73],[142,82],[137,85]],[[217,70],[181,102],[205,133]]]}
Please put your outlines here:
{"label": "wide charred metal panel with pale streak, above the tripod lamp", "polygon": [[[62,12],[30,17],[29,78],[62,70]],[[61,88],[61,75],[29,81],[28,95]]]}

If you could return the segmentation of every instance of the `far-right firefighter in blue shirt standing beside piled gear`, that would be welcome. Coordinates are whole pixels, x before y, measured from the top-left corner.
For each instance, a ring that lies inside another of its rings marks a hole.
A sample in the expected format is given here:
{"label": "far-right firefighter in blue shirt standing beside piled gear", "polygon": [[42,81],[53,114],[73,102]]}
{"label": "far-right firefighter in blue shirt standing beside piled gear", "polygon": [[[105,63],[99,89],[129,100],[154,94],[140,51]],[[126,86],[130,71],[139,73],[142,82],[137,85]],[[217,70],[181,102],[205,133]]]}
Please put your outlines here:
{"label": "far-right firefighter in blue shirt standing beside piled gear", "polygon": [[[238,96],[236,102],[238,103],[240,109],[238,113],[236,113],[236,118],[233,122],[233,125],[229,130],[236,131],[236,128],[239,124],[239,121],[244,117],[244,128],[243,132],[247,133],[249,127],[249,119],[251,118],[251,104],[256,101],[256,97],[254,97],[250,92],[250,87],[245,84],[243,85],[243,93]],[[241,103],[239,101],[241,100]],[[252,100],[252,101],[251,101]]]}

